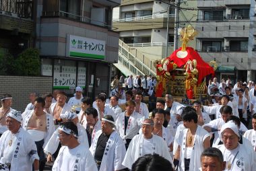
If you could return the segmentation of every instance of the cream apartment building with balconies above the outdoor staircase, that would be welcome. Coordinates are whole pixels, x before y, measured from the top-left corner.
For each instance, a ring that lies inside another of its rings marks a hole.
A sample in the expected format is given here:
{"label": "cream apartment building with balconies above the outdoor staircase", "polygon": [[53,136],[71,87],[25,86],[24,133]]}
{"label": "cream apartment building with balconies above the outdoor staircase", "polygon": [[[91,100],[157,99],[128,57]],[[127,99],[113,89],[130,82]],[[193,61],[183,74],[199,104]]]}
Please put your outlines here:
{"label": "cream apartment building with balconies above the outdoor staircase", "polygon": [[168,55],[173,51],[174,8],[169,9],[169,1],[122,0],[113,13],[113,28],[120,32],[120,39],[134,47],[150,59],[166,57],[166,38]]}

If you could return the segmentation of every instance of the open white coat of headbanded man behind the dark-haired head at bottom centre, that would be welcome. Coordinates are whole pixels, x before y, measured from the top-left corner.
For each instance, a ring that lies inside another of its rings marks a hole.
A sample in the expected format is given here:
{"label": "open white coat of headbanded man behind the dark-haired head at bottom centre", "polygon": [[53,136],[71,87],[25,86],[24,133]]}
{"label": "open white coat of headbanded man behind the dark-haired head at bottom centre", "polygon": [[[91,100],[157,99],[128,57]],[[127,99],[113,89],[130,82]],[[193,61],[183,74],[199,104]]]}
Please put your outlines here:
{"label": "open white coat of headbanded man behind the dark-haired head at bottom centre", "polygon": [[[125,159],[123,160],[123,166],[131,169],[131,166],[137,160],[137,158],[147,154],[143,153],[143,136],[144,135],[136,135],[135,137],[133,137],[127,149]],[[162,156],[166,160],[170,161],[173,166],[172,158],[170,157],[170,153],[168,152],[168,147],[166,145],[166,142],[164,142],[164,139],[162,139],[162,137],[159,137],[158,135],[152,135],[152,139],[152,154],[157,153],[159,156]]]}

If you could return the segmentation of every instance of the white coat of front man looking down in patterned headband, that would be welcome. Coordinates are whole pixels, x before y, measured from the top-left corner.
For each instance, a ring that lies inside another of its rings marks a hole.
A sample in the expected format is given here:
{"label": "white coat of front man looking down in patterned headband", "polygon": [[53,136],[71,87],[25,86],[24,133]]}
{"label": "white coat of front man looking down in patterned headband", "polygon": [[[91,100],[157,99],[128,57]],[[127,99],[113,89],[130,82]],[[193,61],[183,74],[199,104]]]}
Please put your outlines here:
{"label": "white coat of front man looking down in patterned headband", "polygon": [[79,144],[73,149],[62,146],[55,163],[53,171],[98,171],[88,147]]}

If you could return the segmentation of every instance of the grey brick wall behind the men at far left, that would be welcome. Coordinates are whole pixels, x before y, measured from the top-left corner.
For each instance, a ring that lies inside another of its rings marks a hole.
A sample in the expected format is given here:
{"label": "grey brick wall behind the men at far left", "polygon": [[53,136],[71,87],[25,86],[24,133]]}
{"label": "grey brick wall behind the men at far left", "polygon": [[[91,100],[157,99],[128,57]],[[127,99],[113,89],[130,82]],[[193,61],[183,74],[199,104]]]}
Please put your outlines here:
{"label": "grey brick wall behind the men at far left", "polygon": [[11,94],[13,104],[11,108],[24,111],[30,103],[28,98],[30,92],[38,92],[40,96],[52,92],[53,77],[20,77],[0,75],[0,96]]}

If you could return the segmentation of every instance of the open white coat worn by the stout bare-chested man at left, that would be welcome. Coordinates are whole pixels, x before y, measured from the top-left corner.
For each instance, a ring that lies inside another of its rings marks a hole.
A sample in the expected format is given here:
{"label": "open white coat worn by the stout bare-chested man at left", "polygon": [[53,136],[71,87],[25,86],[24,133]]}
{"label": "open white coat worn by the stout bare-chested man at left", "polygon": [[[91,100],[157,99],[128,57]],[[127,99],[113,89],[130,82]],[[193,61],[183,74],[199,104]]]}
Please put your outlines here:
{"label": "open white coat worn by the stout bare-chested man at left", "polygon": [[[22,114],[22,118],[23,118],[22,127],[24,128],[25,131],[28,129],[28,121],[30,121],[30,118],[33,113],[34,113],[34,110],[27,110]],[[55,125],[53,123],[53,116],[49,113],[46,113],[46,134],[44,135],[44,145],[42,145],[43,148],[45,147],[46,143],[48,143],[54,131],[55,131]]]}

